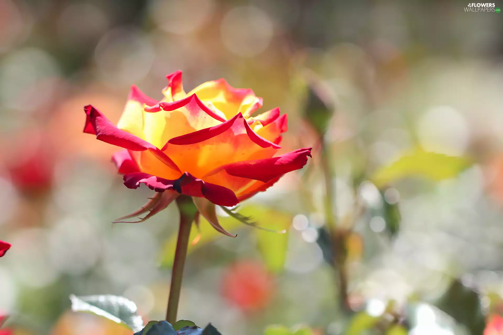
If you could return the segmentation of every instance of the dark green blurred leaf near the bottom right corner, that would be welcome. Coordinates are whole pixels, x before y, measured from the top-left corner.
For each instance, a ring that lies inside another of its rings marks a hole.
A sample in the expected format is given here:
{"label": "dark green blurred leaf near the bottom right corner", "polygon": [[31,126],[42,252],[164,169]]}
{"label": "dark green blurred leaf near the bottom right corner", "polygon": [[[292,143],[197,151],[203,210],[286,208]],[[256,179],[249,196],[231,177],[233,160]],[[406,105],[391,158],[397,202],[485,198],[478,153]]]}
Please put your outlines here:
{"label": "dark green blurred leaf near the bottom right corner", "polygon": [[465,325],[472,335],[481,335],[485,328],[485,317],[482,312],[477,292],[454,280],[437,302],[437,307],[451,315],[456,321]]}

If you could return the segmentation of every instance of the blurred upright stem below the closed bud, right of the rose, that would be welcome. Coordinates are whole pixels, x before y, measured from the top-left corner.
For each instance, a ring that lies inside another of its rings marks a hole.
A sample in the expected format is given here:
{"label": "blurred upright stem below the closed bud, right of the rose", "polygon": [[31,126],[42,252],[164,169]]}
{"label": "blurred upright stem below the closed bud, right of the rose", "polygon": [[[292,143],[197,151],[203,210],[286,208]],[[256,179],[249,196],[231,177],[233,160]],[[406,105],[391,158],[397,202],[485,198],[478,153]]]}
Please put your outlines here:
{"label": "blurred upright stem below the closed bud, right of the rose", "polygon": [[333,266],[336,270],[336,275],[339,279],[339,301],[341,308],[344,311],[349,311],[349,297],[348,297],[348,272],[346,268],[346,236],[345,229],[337,227],[336,212],[334,210],[334,202],[336,201],[336,192],[334,190],[333,179],[335,175],[331,172],[330,159],[326,143],[323,138],[320,140],[321,145],[321,169],[325,179],[325,217],[326,225],[332,238],[332,254]]}

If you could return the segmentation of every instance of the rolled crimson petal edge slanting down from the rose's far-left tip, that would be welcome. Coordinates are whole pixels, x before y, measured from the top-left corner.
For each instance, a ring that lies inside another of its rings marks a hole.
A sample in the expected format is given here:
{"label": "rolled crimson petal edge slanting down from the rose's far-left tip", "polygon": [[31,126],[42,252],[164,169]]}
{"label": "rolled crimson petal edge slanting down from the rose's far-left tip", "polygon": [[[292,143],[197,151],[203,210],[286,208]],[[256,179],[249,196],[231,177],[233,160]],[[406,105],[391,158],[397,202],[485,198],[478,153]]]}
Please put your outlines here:
{"label": "rolled crimson petal edge slanting down from the rose's far-left tip", "polygon": [[[172,174],[172,172],[180,172],[178,166],[167,157],[161,150],[154,145],[140,139],[137,136],[129,134],[123,130],[118,129],[113,123],[110,122],[98,109],[92,105],[84,107],[86,112],[86,125],[84,132],[88,134],[95,134],[98,140],[106,143],[122,147],[131,151],[146,151],[148,150],[157,159],[166,165],[165,173]],[[173,171],[169,171],[169,170]]]}

